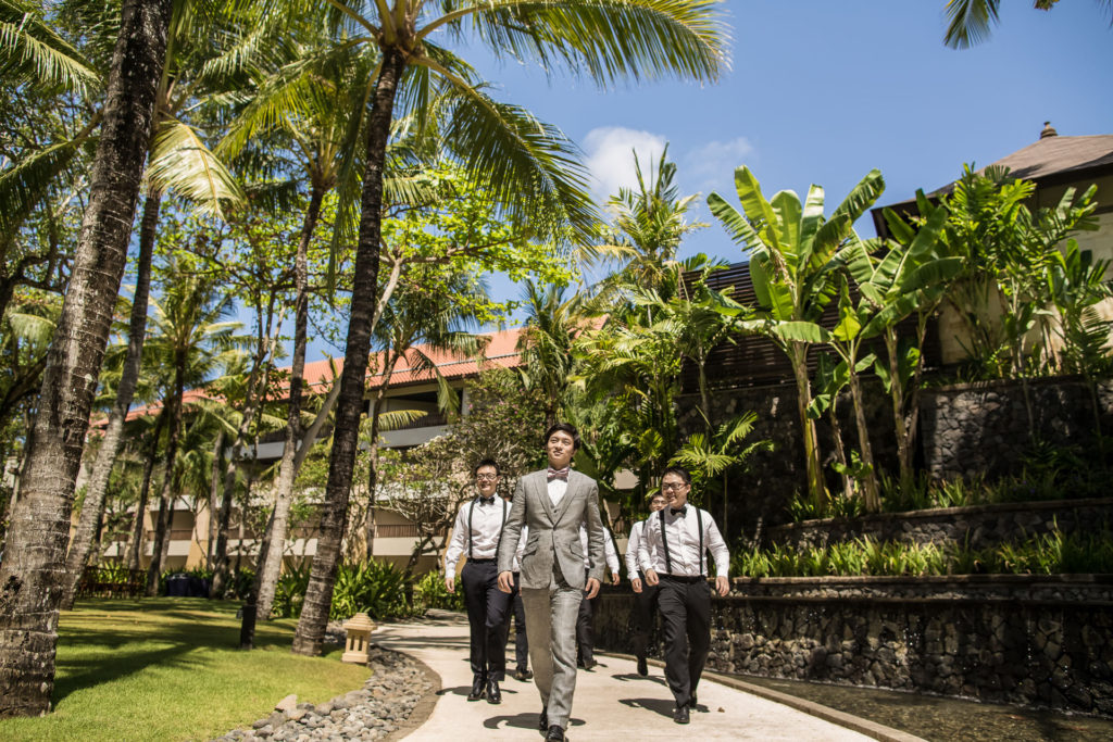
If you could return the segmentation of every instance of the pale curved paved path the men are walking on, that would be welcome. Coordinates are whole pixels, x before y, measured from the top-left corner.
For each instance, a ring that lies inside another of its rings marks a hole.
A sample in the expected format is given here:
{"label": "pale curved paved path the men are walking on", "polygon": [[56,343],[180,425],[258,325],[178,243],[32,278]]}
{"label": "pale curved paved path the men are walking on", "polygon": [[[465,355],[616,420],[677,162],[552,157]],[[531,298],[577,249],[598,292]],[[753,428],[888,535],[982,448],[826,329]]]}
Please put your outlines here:
{"label": "pale curved paved path the men are walking on", "polygon": [[[406,652],[441,675],[440,699],[432,715],[406,742],[465,740],[539,740],[541,700],[532,682],[508,677],[502,703],[469,702],[472,673],[467,663],[467,622],[451,614],[414,623],[385,624],[372,641]],[[513,655],[513,645],[511,645]],[[867,740],[857,732],[823,721],[779,703],[742,691],[700,682],[697,713],[691,724],[672,722],[672,695],[662,670],[650,667],[641,677],[630,660],[597,655],[592,672],[577,675],[572,719],[567,730],[572,742],[587,740],[677,739],[701,740]],[[512,665],[513,663],[511,663]]]}

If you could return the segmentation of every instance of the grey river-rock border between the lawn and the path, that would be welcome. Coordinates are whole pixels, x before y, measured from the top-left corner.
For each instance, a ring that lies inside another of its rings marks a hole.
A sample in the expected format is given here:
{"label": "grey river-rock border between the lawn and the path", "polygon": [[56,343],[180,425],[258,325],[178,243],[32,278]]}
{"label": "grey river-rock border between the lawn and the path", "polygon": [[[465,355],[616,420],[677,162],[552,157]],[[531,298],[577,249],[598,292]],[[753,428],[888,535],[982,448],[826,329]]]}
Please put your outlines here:
{"label": "grey river-rock border between the lawn and the path", "polygon": [[368,645],[367,656],[372,675],[362,689],[318,705],[280,703],[250,729],[235,729],[216,742],[391,742],[405,736],[432,713],[441,679],[424,663],[377,644]]}

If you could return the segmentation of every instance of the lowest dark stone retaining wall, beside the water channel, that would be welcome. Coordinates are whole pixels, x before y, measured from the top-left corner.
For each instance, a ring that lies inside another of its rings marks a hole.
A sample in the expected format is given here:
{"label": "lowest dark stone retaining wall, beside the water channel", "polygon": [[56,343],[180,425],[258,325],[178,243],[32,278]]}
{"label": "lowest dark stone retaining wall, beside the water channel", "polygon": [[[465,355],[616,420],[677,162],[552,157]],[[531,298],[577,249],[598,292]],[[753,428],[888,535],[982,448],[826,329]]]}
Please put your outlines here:
{"label": "lowest dark stone retaining wall, beside the water channel", "polygon": [[[632,603],[604,588],[600,649],[631,651]],[[1113,575],[737,580],[711,633],[720,672],[1113,716]]]}

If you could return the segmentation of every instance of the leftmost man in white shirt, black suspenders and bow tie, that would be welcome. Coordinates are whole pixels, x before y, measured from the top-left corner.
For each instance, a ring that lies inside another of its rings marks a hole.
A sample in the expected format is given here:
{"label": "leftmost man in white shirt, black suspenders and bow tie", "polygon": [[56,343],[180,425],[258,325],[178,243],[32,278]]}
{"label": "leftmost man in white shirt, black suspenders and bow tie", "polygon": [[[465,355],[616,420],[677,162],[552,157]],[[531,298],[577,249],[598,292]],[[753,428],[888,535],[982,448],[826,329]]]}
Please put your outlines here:
{"label": "leftmost man in white shirt, black suspenders and bow tie", "polygon": [[464,605],[471,627],[472,692],[469,701],[486,696],[487,703],[502,703],[499,683],[506,675],[506,637],[503,616],[510,595],[499,590],[495,560],[510,506],[495,497],[499,465],[485,458],[475,466],[479,497],[464,503],[456,514],[452,541],[444,554],[444,586],[456,592],[456,562],[466,552],[467,562],[460,573]]}

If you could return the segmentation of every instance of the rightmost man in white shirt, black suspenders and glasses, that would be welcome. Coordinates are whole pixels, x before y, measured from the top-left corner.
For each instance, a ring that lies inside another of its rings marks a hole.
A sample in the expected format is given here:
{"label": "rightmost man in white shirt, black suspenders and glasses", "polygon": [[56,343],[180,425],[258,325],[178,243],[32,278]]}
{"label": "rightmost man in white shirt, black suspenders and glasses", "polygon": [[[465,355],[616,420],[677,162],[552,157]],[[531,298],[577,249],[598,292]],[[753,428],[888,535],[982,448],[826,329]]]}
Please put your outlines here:
{"label": "rightmost man in white shirt, black suspenders and glasses", "polygon": [[[691,474],[670,466],[661,476],[669,506],[650,516],[642,528],[638,563],[646,584],[660,585],[658,606],[664,627],[664,677],[676,699],[672,720],[687,724],[696,706],[696,687],[711,645],[711,588],[707,551],[715,557],[720,596],[730,591],[730,553],[715,518],[688,504]],[[654,553],[656,550],[656,553]],[[689,646],[690,643],[690,646]]]}

